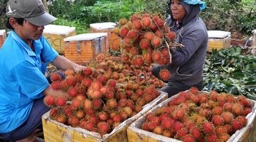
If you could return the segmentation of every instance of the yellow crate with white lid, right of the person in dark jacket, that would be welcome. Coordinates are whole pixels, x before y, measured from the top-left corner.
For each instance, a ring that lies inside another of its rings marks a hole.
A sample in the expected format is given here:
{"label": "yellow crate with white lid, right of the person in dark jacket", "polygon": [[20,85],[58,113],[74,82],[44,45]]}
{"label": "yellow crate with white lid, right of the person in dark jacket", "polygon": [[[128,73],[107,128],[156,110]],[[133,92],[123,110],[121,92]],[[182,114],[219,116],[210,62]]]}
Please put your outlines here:
{"label": "yellow crate with white lid, right of the person in dark jacket", "polygon": [[208,31],[208,51],[230,48],[231,34],[226,31]]}

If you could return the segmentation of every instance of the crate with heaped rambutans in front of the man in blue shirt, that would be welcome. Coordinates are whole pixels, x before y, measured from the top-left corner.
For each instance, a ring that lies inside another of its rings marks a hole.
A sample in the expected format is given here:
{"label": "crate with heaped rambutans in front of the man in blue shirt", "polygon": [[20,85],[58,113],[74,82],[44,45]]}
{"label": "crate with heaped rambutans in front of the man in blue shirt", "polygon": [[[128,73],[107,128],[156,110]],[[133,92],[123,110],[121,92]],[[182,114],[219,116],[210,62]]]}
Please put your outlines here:
{"label": "crate with heaped rambutans in front of the man in blue shirt", "polygon": [[118,85],[110,70],[97,74],[87,67],[64,73],[65,79],[53,73],[51,86],[68,98],[44,99],[51,108],[42,117],[45,141],[127,141],[127,126],[167,98],[154,85]]}

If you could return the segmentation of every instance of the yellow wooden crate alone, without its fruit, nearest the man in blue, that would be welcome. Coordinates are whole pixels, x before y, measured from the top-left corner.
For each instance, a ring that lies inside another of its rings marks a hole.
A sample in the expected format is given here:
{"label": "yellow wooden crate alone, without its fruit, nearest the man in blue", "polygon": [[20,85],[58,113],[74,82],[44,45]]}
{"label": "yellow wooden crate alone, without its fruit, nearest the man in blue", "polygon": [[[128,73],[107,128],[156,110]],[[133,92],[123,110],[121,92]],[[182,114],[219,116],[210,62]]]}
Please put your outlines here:
{"label": "yellow wooden crate alone, without its fruit, nearest the man in blue", "polygon": [[111,133],[100,136],[99,133],[87,131],[85,129],[73,128],[65,124],[60,124],[58,121],[49,118],[49,111],[42,116],[43,123],[43,136],[46,142],[77,142],[77,141],[111,141],[111,142],[127,142],[127,127],[132,124],[133,121],[139,119],[140,116],[146,114],[149,109],[153,108],[156,104],[163,102],[168,98],[168,94],[161,92],[159,97],[154,99],[149,104],[146,104],[142,111],[135,116],[123,121],[119,124]]}

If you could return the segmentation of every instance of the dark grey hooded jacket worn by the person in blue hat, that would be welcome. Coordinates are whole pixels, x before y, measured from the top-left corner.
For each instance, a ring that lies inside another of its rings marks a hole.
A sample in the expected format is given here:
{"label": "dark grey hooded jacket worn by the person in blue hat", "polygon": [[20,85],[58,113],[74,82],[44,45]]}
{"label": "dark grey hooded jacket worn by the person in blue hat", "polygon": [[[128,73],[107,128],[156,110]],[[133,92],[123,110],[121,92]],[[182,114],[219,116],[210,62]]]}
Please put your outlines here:
{"label": "dark grey hooded jacket worn by the person in blue hat", "polygon": [[[166,18],[172,31],[176,32],[176,41],[184,47],[171,50],[172,62],[168,66],[171,71],[170,82],[181,82],[193,85],[203,80],[203,67],[206,58],[208,33],[206,25],[198,16],[199,4],[190,5],[180,1],[186,10],[186,16],[177,26],[176,21],[170,15]],[[169,2],[169,9],[171,3]]]}

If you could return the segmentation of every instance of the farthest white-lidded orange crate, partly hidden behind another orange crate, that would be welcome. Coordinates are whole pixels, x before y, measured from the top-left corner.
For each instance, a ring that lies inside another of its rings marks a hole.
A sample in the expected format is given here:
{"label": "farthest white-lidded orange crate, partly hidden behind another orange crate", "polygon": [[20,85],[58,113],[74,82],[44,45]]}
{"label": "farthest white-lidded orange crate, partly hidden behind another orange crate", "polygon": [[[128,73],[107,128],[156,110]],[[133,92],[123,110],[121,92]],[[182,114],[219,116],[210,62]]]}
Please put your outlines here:
{"label": "farthest white-lidded orange crate, partly hidden behind another orange crate", "polygon": [[121,38],[112,32],[116,23],[106,22],[106,23],[91,23],[90,31],[91,33],[107,33],[109,46],[112,47],[113,44],[119,45]]}

